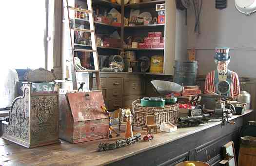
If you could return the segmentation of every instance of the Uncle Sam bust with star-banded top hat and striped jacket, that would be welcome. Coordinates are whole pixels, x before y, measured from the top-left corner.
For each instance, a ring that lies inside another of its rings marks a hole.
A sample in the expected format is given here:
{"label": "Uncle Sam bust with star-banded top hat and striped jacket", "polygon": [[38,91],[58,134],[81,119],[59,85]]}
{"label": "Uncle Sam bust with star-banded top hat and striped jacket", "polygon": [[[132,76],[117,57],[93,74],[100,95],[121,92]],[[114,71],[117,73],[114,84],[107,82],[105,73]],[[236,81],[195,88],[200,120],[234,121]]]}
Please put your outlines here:
{"label": "Uncle Sam bust with star-banded top hat and striped jacket", "polygon": [[240,93],[240,87],[238,75],[228,70],[230,62],[229,48],[217,47],[215,50],[214,58],[217,69],[206,75],[204,92],[236,97]]}

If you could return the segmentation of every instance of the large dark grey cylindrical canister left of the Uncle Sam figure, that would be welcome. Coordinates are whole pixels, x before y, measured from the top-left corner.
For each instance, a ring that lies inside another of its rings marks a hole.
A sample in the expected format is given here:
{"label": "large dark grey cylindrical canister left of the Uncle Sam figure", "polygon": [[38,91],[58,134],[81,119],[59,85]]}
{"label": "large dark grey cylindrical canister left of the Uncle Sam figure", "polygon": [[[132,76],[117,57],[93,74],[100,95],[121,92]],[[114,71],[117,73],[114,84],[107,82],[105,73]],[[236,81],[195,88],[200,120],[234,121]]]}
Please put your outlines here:
{"label": "large dark grey cylindrical canister left of the Uncle Sam figure", "polygon": [[186,86],[195,86],[197,61],[175,60],[174,82]]}

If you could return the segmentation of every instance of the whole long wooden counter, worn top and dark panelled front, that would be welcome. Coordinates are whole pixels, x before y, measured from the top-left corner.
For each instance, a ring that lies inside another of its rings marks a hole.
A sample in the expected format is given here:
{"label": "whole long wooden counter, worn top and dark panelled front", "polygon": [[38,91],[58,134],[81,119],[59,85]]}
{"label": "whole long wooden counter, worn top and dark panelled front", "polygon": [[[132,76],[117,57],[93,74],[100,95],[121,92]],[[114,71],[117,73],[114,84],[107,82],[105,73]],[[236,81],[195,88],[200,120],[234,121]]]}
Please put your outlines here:
{"label": "whole long wooden counter, worn top and dark panelled front", "polygon": [[[112,139],[96,140],[79,144],[61,141],[61,144],[39,148],[23,148],[0,139],[0,165],[3,166],[173,166],[185,160],[204,161],[218,166],[220,147],[234,141],[236,152],[239,132],[247,124],[252,111],[231,118],[236,125],[211,122],[192,128],[178,129],[172,133],[154,134],[149,142],[138,142],[125,148],[97,152],[98,143],[114,142]],[[124,126],[121,128],[124,131]],[[135,128],[134,133],[145,131]],[[118,137],[120,139],[122,137]]]}

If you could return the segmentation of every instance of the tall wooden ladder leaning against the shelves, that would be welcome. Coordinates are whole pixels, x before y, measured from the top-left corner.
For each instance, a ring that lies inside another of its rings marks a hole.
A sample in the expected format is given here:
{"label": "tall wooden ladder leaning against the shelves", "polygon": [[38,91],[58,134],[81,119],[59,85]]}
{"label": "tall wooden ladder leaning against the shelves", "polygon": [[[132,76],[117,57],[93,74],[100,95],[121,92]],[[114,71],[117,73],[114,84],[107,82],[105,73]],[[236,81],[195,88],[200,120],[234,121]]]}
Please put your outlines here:
{"label": "tall wooden ladder leaning against the shelves", "polygon": [[[94,19],[93,19],[93,7],[92,7],[92,0],[87,0],[87,6],[88,9],[80,9],[76,7],[72,7],[68,5],[68,0],[63,0],[63,9],[64,9],[64,18],[65,18],[65,28],[68,39],[68,49],[70,51],[70,63],[71,63],[71,75],[72,75],[72,82],[73,82],[73,90],[78,90],[77,87],[77,78],[76,73],[94,73],[96,76],[96,83],[97,83],[97,89],[101,90],[101,84],[100,84],[100,74],[99,74],[99,66],[98,66],[98,52],[97,52],[97,46],[96,46],[96,35],[95,35],[95,27],[94,27]],[[70,15],[69,10],[74,10],[88,13],[89,16],[89,24],[90,29],[80,29],[71,27],[70,23]],[[75,49],[71,31],[81,31],[81,32],[89,32],[91,34],[91,40],[92,40],[92,50],[89,49]],[[79,70],[77,71],[75,69],[75,59],[74,59],[74,53],[75,52],[89,52],[93,54],[93,60],[94,60],[94,70]]]}

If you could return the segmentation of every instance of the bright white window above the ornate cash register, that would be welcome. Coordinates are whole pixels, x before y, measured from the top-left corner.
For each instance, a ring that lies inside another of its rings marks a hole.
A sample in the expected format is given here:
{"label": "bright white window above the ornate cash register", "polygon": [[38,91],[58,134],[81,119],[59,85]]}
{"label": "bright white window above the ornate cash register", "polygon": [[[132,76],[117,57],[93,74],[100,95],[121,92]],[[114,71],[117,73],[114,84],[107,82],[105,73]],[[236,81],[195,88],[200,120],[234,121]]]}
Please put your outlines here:
{"label": "bright white window above the ornate cash register", "polygon": [[0,2],[0,61],[15,69],[45,67],[48,0]]}

